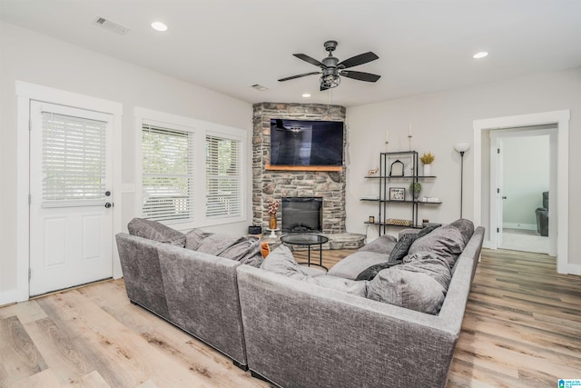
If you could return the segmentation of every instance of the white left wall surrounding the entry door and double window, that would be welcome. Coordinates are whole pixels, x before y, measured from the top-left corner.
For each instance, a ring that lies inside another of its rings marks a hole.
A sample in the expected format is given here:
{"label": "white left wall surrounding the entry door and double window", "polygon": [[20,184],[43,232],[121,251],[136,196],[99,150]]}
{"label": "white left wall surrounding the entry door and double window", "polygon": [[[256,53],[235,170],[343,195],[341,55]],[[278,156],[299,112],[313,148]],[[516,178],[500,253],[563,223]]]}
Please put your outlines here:
{"label": "white left wall surrounding the entry door and double window", "polygon": [[[15,212],[17,80],[123,104],[123,183],[135,183],[136,179],[135,106],[241,128],[248,132],[251,144],[251,104],[0,22],[0,300],[3,292],[15,288],[16,218],[26,216]],[[251,160],[250,150],[248,157]],[[251,176],[250,168],[247,176]],[[136,215],[133,197],[123,194],[123,225]],[[251,224],[250,201],[249,184],[248,220],[213,230],[245,234]]]}

